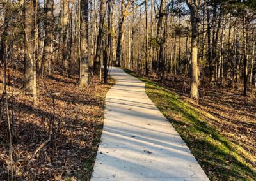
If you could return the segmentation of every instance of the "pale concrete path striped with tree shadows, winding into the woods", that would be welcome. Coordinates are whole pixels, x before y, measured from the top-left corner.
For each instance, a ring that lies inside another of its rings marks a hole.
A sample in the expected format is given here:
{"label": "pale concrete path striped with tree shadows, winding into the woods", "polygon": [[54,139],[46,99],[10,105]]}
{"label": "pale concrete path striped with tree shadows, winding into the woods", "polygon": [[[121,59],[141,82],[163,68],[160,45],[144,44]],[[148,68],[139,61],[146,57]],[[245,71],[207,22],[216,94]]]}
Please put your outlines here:
{"label": "pale concrete path striped with tree shadows, winding into the woods", "polygon": [[145,84],[113,68],[102,143],[91,180],[209,180]]}

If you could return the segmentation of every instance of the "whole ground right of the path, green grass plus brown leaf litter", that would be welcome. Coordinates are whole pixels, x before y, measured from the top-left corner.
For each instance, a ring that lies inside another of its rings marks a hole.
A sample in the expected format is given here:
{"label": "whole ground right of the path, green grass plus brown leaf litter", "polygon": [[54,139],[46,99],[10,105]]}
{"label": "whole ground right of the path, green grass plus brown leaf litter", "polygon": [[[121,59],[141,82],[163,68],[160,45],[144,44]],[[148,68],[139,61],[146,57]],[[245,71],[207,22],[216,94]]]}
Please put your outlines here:
{"label": "whole ground right of the path, green grass plus brown leaf litter", "polygon": [[159,83],[154,76],[125,71],[145,82],[148,96],[172,122],[210,180],[256,180],[253,92],[244,97],[242,90],[205,88],[195,103],[188,98],[182,78]]}

